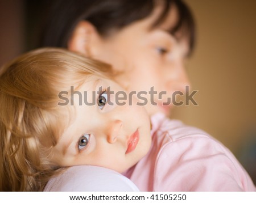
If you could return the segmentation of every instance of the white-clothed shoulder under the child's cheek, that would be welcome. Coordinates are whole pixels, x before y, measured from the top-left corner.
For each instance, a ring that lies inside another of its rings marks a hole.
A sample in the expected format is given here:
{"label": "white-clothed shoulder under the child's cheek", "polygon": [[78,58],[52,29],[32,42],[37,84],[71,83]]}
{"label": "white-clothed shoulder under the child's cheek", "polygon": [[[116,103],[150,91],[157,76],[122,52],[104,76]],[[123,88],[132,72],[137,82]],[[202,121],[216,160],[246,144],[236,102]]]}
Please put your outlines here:
{"label": "white-clothed shoulder under the child's cheek", "polygon": [[98,166],[73,166],[48,181],[45,192],[139,191],[127,177]]}

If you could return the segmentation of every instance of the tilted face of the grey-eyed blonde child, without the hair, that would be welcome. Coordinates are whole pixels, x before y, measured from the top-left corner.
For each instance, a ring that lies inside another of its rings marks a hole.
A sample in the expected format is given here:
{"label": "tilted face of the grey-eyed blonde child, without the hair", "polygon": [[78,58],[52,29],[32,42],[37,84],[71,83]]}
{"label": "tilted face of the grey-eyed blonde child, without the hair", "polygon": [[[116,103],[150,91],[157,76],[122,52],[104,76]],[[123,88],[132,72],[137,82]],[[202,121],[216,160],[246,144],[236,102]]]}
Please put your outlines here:
{"label": "tilted face of the grey-eyed blonde child, without the hair", "polygon": [[[101,87],[102,92],[98,92]],[[151,145],[150,120],[146,109],[136,105],[135,98],[118,100],[126,102],[118,105],[115,93],[123,89],[117,83],[96,76],[89,77],[76,91],[81,92],[82,98],[74,95],[71,122],[53,150],[53,159],[59,166],[88,164],[123,172],[146,155]],[[92,103],[93,97],[96,104],[84,104]],[[108,100],[113,105],[105,103]]]}

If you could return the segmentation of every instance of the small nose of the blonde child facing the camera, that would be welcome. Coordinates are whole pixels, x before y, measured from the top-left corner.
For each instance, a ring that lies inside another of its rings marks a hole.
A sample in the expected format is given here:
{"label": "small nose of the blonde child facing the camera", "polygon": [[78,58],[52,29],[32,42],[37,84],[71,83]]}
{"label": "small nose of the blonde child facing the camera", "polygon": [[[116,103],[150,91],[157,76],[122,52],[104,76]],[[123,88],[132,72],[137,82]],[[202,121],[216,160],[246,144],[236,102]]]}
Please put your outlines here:
{"label": "small nose of the blonde child facing the camera", "polygon": [[114,120],[109,123],[107,130],[107,139],[109,143],[114,143],[117,141],[117,137],[119,136],[123,123],[121,120]]}

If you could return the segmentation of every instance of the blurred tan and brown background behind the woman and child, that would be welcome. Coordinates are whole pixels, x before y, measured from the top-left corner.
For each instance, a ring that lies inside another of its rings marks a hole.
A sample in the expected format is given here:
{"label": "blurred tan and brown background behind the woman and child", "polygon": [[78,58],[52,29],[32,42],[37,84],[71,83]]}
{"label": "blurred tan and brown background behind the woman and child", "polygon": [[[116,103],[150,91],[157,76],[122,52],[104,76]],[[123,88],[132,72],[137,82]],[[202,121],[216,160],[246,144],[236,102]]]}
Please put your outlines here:
{"label": "blurred tan and brown background behind the woman and child", "polygon": [[[30,2],[30,3],[28,3]],[[24,52],[36,1],[0,0],[0,65]],[[197,126],[226,145],[256,180],[256,1],[187,0],[197,23],[188,75],[198,106],[172,118]],[[29,9],[30,8],[30,9]],[[35,33],[35,32],[34,32]],[[249,157],[249,158],[248,158]]]}

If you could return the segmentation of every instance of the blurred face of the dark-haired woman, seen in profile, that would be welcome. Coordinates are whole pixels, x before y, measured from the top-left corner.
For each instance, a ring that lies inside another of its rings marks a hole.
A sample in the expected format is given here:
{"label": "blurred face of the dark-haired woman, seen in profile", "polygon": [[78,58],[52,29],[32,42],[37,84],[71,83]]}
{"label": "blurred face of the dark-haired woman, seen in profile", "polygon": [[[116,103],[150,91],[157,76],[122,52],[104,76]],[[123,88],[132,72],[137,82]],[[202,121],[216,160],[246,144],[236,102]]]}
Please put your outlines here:
{"label": "blurred face of the dark-haired woman, seen in profile", "polygon": [[[117,82],[127,91],[166,91],[162,99],[154,96],[152,105],[148,102],[146,109],[150,115],[156,112],[170,113],[172,105],[162,106],[174,91],[184,92],[189,84],[184,69],[184,59],[188,53],[188,41],[177,41],[166,30],[176,21],[176,10],[172,8],[166,21],[157,28],[150,29],[151,24],[159,16],[157,8],[153,15],[132,23],[115,32],[112,36],[102,39],[103,45],[95,55],[102,61],[112,64],[114,69],[121,71]],[[150,101],[147,94],[148,101]]]}

